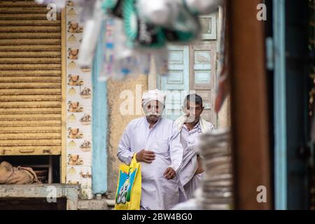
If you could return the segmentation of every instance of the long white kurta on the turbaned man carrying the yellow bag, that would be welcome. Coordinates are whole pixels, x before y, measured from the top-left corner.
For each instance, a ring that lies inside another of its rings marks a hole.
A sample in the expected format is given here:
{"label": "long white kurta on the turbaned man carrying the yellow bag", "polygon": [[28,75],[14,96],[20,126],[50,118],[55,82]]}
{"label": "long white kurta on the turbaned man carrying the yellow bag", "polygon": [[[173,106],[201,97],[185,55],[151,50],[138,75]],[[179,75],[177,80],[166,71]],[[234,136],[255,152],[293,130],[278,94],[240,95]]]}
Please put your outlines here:
{"label": "long white kurta on the turbaned man carrying the yellow bag", "polygon": [[167,180],[163,176],[167,167],[177,171],[183,160],[180,133],[172,120],[160,118],[149,129],[146,117],[130,122],[118,144],[118,158],[127,165],[132,155],[142,149],[153,151],[155,160],[141,162],[141,209],[172,209],[179,203],[179,177]]}

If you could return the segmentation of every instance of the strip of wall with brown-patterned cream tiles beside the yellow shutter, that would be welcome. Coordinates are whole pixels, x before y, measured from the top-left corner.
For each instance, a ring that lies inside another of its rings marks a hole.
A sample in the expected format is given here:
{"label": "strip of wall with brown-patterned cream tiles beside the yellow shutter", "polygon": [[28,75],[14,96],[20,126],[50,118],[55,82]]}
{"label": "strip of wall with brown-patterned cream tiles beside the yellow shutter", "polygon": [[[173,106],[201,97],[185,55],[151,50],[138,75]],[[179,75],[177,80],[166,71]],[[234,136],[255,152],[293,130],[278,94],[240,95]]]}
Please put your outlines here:
{"label": "strip of wall with brown-patterned cream tiles beside the yellow shutter", "polygon": [[78,48],[83,27],[73,1],[66,6],[66,183],[80,184],[82,196],[92,198],[92,83],[91,69],[80,69]]}

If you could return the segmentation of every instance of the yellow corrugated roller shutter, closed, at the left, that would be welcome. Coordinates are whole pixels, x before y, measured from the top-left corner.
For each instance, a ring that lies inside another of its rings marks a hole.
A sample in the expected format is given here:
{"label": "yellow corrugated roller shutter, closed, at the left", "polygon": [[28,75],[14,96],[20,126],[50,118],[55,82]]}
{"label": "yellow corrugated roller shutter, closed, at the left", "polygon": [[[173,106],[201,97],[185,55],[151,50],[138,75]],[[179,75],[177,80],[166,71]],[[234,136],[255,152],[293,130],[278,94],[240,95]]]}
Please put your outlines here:
{"label": "yellow corrugated roller shutter, closed, at the left", "polygon": [[61,17],[47,13],[0,1],[0,155],[61,154]]}

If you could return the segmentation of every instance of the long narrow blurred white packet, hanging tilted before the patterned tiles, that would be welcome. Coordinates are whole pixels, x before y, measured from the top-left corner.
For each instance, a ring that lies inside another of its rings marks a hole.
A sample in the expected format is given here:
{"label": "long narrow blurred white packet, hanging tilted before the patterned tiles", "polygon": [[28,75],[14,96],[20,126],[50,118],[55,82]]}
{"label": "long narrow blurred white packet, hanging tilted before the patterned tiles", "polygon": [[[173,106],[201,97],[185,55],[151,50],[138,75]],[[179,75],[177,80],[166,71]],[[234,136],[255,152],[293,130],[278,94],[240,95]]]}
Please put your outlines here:
{"label": "long narrow blurred white packet, hanging tilted before the patterned tiles", "polygon": [[94,6],[92,6],[93,16],[85,21],[83,39],[78,55],[79,66],[92,66],[94,52],[97,47],[99,34],[101,33],[102,22],[105,20],[101,4],[102,0],[94,2]]}

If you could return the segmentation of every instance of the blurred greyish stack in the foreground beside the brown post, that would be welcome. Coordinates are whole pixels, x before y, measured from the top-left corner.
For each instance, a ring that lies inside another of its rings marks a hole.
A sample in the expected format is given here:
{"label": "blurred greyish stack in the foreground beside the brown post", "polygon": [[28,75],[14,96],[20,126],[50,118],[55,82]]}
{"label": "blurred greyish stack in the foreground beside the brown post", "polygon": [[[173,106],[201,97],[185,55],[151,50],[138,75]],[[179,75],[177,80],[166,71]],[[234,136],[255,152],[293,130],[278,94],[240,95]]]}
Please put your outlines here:
{"label": "blurred greyish stack in the foreground beside the brown post", "polygon": [[195,199],[176,205],[174,209],[232,209],[232,156],[230,131],[212,130],[200,137],[198,146],[205,172],[202,187],[195,192]]}

